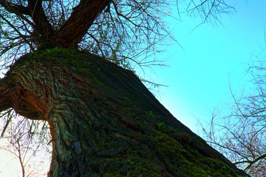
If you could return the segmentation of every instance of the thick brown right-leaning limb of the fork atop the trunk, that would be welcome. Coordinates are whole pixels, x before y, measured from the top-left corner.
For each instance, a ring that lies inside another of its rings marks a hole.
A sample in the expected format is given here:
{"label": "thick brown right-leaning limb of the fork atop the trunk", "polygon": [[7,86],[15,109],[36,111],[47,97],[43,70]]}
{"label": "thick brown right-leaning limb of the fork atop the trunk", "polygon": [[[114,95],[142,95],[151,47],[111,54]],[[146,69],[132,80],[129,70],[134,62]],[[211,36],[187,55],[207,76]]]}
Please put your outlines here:
{"label": "thick brown right-leaning limb of the fork atop the trunk", "polygon": [[110,0],[84,0],[73,8],[72,15],[54,36],[54,46],[76,48],[97,16],[110,4]]}

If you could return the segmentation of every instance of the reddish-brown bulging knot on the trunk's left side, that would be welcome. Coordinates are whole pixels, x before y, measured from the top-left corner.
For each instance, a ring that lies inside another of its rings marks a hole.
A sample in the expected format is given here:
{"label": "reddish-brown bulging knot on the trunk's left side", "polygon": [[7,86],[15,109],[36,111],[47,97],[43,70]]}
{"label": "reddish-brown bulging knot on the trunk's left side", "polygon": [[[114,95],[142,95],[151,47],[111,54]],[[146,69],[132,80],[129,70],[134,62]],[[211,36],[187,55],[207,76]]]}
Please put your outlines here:
{"label": "reddish-brown bulging knot on the trunk's left side", "polygon": [[[45,120],[50,107],[50,83],[46,82],[45,69],[41,63],[18,59],[3,78],[8,87],[9,107],[18,114],[33,120]],[[1,94],[2,95],[2,94]]]}

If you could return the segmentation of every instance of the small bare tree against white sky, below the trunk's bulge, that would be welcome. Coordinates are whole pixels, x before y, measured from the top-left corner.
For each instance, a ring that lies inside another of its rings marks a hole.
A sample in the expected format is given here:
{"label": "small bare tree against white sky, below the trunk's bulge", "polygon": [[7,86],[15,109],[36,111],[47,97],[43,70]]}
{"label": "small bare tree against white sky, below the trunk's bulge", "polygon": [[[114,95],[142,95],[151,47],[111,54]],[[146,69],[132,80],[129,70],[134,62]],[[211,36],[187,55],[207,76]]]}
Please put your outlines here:
{"label": "small bare tree against white sky, below the trunk's bulge", "polygon": [[[52,151],[47,122],[28,120],[12,109],[3,112],[1,116],[6,121],[1,137],[8,144],[1,146],[0,151],[9,152],[15,157],[20,164],[22,177],[45,174],[48,169],[44,165],[48,165],[46,163],[51,159]],[[32,160],[34,163],[31,163]]]}

